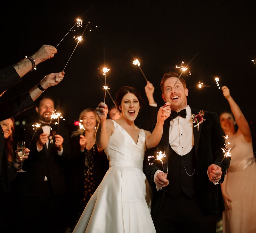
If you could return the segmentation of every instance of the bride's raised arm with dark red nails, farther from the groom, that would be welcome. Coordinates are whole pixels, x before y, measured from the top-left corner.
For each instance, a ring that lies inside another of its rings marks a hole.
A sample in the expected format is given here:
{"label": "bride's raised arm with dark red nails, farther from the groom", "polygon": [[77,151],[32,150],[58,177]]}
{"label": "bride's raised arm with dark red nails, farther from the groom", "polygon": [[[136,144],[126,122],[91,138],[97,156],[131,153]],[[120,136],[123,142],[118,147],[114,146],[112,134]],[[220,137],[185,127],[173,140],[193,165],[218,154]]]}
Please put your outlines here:
{"label": "bride's raised arm with dark red nails, farther from the groom", "polygon": [[100,118],[95,135],[96,144],[99,149],[105,149],[114,131],[114,123],[111,120],[107,120],[108,106],[106,104],[101,102],[96,108],[96,112]]}

